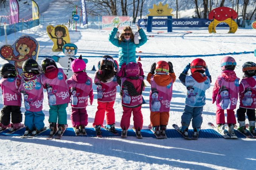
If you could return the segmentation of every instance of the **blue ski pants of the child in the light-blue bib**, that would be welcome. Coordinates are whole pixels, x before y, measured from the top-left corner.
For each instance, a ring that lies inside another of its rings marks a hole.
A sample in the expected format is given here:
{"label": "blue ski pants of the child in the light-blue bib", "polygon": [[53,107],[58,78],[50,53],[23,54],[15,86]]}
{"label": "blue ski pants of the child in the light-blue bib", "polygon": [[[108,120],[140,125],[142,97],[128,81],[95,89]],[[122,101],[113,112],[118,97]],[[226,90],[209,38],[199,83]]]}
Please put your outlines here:
{"label": "blue ski pants of the child in the light-blue bib", "polygon": [[181,116],[181,125],[189,127],[192,119],[192,127],[200,128],[203,122],[203,106],[202,107],[190,107],[185,105],[184,113]]}

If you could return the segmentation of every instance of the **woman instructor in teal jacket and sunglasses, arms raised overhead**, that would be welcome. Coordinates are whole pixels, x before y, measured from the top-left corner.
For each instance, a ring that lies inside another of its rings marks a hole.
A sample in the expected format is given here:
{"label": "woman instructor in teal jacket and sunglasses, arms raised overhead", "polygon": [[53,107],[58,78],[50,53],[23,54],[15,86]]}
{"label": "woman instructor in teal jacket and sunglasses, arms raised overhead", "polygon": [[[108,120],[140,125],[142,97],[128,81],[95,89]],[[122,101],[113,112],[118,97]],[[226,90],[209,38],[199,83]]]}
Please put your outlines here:
{"label": "woman instructor in teal jacket and sunglasses, arms raised overhead", "polygon": [[136,63],[136,47],[140,47],[147,42],[146,34],[144,33],[143,29],[137,25],[137,30],[141,39],[138,41],[138,37],[134,38],[133,31],[131,27],[126,26],[123,29],[123,32],[120,35],[120,38],[115,38],[117,33],[118,27],[120,23],[113,28],[111,31],[108,40],[116,47],[119,48],[119,66],[122,66],[123,63],[134,62]]}

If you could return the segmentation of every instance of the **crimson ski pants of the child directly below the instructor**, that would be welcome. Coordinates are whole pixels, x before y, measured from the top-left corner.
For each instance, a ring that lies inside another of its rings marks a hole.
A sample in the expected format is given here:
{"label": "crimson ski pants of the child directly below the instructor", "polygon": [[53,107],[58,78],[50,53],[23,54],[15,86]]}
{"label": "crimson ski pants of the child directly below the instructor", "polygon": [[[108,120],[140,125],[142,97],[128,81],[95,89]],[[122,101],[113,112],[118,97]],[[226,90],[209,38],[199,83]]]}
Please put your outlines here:
{"label": "crimson ski pants of the child directly below the instructor", "polygon": [[141,106],[136,108],[130,108],[130,107],[123,107],[123,116],[120,122],[120,126],[123,129],[125,126],[126,129],[129,129],[130,127],[130,119],[131,119],[131,113],[133,112],[133,122],[134,122],[134,128],[140,128],[142,129],[143,126],[143,116],[141,113]]}

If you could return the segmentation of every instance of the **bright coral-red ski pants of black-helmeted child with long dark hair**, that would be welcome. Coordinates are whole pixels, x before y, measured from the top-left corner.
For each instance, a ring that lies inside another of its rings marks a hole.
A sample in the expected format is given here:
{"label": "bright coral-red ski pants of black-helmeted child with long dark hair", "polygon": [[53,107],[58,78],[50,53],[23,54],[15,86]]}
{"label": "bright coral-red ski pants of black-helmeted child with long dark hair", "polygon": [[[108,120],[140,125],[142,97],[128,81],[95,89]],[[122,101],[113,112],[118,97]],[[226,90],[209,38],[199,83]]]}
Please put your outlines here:
{"label": "bright coral-red ski pants of black-helmeted child with long dark hair", "polygon": [[94,118],[93,126],[101,125],[103,126],[104,117],[106,113],[106,124],[112,125],[115,123],[115,112],[114,112],[114,102],[100,102],[98,101],[98,107]]}

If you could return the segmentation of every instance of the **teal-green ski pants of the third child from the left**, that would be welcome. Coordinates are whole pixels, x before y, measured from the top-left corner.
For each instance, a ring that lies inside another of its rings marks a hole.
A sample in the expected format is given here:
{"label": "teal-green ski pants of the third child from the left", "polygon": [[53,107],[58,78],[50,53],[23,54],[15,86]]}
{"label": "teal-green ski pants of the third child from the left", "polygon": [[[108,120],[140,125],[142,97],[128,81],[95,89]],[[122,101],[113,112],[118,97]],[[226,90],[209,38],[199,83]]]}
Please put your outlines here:
{"label": "teal-green ski pants of the third child from the left", "polygon": [[66,125],[67,124],[67,103],[49,106],[49,122]]}

